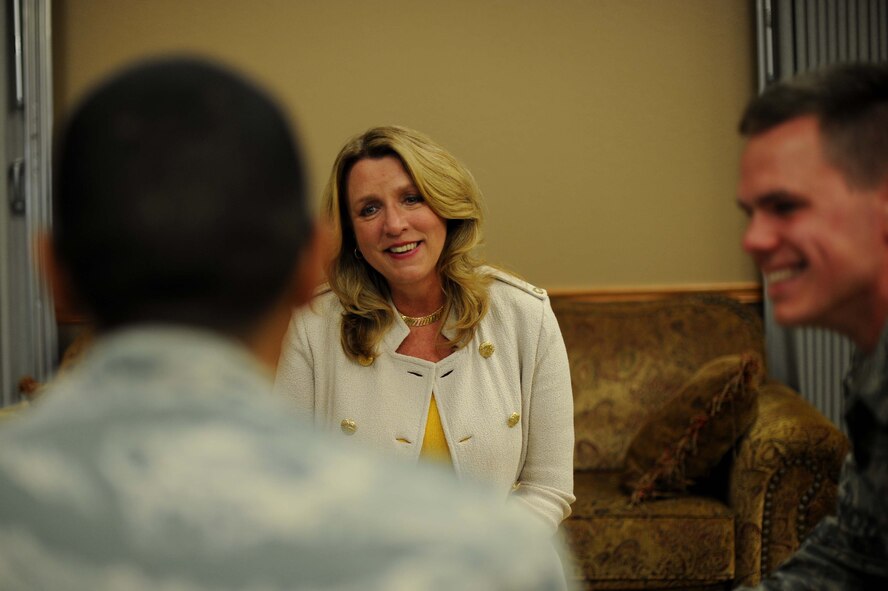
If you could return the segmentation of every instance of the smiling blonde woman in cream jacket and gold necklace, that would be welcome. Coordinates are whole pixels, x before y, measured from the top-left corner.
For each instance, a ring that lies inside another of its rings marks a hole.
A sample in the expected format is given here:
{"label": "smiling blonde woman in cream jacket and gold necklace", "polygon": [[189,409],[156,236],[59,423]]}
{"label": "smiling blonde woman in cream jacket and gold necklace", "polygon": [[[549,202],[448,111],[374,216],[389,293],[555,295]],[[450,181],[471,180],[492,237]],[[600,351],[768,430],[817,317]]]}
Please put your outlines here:
{"label": "smiling blonde woman in cream jacket and gold necklace", "polygon": [[554,531],[573,496],[573,399],[544,290],[484,266],[481,193],[430,138],[349,141],[324,210],[335,258],[293,317],[276,391],[354,445],[484,479]]}

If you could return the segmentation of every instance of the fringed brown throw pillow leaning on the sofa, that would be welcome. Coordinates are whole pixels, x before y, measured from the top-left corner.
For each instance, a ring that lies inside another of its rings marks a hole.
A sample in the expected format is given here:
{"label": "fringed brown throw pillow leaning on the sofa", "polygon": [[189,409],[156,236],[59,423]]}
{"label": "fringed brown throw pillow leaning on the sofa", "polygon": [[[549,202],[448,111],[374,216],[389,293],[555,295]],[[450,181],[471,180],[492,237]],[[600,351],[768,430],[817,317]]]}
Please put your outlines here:
{"label": "fringed brown throw pillow leaning on the sofa", "polygon": [[684,492],[718,464],[758,414],[758,355],[704,365],[648,417],[626,455],[624,487],[637,504]]}

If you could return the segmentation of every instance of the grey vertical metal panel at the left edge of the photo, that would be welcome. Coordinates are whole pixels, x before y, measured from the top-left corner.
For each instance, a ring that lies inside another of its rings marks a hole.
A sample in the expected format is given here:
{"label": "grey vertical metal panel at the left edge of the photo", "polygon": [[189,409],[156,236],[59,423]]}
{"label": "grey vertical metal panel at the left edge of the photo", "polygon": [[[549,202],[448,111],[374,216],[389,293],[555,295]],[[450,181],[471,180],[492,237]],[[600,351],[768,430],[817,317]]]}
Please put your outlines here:
{"label": "grey vertical metal panel at the left edge of the photo", "polygon": [[48,379],[56,358],[55,316],[35,249],[51,218],[51,0],[4,4],[0,160],[7,183],[0,200],[0,406],[18,402],[22,378]]}

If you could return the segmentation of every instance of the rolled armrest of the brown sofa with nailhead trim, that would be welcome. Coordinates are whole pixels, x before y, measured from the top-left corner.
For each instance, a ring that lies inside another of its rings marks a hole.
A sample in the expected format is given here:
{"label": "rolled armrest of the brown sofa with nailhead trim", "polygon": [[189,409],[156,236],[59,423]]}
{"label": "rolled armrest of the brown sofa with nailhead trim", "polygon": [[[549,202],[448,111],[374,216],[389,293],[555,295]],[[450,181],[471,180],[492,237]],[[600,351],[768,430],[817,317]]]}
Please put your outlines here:
{"label": "rolled armrest of the brown sofa with nailhead trim", "polygon": [[736,515],[736,584],[758,583],[835,512],[845,435],[794,390],[769,382],[737,442],[728,503]]}

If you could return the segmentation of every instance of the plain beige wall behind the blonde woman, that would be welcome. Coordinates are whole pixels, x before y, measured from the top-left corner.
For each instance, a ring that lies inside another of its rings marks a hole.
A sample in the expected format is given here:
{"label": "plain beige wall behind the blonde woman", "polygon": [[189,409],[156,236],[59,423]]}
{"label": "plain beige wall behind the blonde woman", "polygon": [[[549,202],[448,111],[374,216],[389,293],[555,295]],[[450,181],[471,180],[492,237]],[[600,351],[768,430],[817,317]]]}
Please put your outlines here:
{"label": "plain beige wall behind the blonde woman", "polygon": [[734,205],[748,0],[55,0],[57,112],[134,58],[220,58],[297,122],[319,192],[367,127],[486,196],[489,260],[548,288],[755,281]]}

